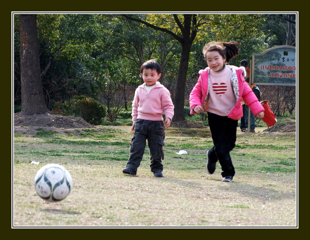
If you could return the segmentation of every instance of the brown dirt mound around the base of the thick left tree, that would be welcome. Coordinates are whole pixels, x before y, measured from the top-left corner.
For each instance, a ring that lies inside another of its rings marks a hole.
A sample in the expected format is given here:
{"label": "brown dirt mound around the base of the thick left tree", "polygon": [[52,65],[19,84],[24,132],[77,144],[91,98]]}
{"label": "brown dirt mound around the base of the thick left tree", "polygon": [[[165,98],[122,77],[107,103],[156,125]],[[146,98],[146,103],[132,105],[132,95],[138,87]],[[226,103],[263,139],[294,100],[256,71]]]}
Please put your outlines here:
{"label": "brown dirt mound around the base of the thick left tree", "polygon": [[91,125],[80,117],[53,115],[48,113],[27,116],[21,116],[15,113],[14,126],[54,127],[60,129],[94,128],[94,125]]}

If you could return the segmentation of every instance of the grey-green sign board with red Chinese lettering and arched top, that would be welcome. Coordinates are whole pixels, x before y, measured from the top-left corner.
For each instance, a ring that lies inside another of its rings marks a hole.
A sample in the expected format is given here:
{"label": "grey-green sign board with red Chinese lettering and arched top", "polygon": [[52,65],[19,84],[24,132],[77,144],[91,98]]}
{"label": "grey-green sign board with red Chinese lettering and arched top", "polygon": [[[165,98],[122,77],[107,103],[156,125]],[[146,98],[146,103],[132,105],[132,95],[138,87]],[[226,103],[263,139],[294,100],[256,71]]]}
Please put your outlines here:
{"label": "grey-green sign board with red Chinese lettering and arched top", "polygon": [[282,45],[261,54],[253,53],[251,83],[256,85],[296,85],[296,47]]}

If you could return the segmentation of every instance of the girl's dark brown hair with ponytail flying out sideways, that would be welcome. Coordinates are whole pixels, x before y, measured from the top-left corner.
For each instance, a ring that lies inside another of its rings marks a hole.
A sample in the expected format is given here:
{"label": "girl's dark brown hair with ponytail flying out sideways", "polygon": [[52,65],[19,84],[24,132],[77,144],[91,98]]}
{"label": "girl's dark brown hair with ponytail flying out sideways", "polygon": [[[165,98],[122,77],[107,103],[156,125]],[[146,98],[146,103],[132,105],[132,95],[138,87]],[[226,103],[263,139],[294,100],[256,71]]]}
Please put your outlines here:
{"label": "girl's dark brown hair with ponytail flying out sideways", "polygon": [[241,44],[238,42],[210,42],[203,47],[202,53],[206,60],[207,52],[218,51],[223,58],[226,58],[225,63],[229,63],[233,57],[239,54],[239,48],[236,45]]}

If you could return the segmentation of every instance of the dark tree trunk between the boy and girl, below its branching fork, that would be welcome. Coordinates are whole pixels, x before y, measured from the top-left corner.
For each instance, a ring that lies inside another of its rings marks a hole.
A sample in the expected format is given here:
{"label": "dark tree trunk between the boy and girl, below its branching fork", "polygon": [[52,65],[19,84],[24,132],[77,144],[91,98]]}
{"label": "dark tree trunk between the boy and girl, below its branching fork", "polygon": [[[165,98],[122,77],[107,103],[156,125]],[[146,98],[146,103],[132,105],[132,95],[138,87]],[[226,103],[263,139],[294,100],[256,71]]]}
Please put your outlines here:
{"label": "dark tree trunk between the boy and girl, below its branching fork", "polygon": [[188,61],[190,46],[186,43],[182,44],[181,59],[179,64],[178,78],[176,80],[175,96],[173,98],[174,102],[174,116],[173,121],[184,121],[184,98],[185,98],[185,84],[186,75],[188,70]]}

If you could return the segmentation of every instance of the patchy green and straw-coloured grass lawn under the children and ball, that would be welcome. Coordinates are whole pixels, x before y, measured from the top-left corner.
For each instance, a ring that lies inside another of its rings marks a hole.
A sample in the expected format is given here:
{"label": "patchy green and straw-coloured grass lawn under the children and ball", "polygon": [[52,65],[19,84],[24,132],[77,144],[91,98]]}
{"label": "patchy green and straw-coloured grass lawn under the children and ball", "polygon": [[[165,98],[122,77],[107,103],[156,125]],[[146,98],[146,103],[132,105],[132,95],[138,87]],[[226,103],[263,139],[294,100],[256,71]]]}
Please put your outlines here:
{"label": "patchy green and straw-coloured grass lawn under the children and ball", "polygon": [[[208,128],[166,129],[164,178],[150,172],[148,148],[137,176],[122,173],[132,135],[130,126],[82,129],[78,136],[17,134],[14,226],[296,226],[295,134],[238,134],[232,183],[221,182],[219,164],[206,172]],[[57,203],[34,189],[35,174],[50,163],[73,177],[71,193]]]}

